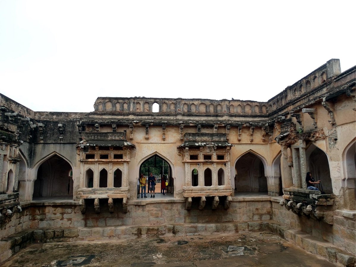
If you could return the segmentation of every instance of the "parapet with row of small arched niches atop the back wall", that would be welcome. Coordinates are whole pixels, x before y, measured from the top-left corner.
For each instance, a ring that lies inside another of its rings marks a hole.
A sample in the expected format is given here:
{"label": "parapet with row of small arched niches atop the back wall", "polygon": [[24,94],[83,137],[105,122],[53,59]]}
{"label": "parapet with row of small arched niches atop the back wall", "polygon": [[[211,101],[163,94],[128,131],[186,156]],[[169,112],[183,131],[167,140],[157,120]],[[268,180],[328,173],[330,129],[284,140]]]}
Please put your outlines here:
{"label": "parapet with row of small arched niches atop the back wall", "polygon": [[212,100],[181,98],[111,98],[99,97],[95,111],[152,112],[153,104],[159,106],[158,113],[177,114],[267,114],[267,103],[249,100]]}

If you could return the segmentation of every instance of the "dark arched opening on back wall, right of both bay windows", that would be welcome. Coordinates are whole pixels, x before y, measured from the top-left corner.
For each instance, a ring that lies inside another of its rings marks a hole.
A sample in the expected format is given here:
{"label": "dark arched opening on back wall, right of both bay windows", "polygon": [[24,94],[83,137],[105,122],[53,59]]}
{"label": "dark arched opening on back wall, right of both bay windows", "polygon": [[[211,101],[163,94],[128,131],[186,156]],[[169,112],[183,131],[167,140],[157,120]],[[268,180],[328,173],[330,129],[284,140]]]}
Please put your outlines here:
{"label": "dark arched opening on back wall, right of both bay windows", "polygon": [[235,190],[237,192],[261,192],[267,194],[267,178],[262,160],[248,152],[235,164]]}

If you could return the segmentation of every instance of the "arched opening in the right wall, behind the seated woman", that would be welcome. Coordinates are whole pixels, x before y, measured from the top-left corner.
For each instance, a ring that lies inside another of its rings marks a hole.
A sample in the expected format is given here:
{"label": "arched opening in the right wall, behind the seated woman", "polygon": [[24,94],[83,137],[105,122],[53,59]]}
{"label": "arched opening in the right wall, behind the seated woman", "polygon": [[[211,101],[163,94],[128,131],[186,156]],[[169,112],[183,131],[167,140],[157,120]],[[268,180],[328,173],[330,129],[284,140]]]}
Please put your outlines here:
{"label": "arched opening in the right wall, behind the seated woman", "polygon": [[[332,194],[333,185],[331,184],[329,161],[325,152],[313,144],[310,144],[305,152],[309,163],[309,172],[312,173],[315,181],[321,181],[321,184],[316,187],[319,186],[319,190],[322,187],[326,194]],[[305,179],[305,175],[305,173],[302,174],[303,179]]]}

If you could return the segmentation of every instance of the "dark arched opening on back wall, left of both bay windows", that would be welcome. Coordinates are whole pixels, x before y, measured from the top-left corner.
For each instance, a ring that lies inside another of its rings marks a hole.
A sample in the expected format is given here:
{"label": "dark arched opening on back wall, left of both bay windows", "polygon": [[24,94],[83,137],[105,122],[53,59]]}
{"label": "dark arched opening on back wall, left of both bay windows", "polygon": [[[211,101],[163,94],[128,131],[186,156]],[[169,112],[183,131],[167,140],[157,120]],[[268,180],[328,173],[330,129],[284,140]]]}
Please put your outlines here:
{"label": "dark arched opening on back wall, left of both bay windows", "polygon": [[33,188],[33,199],[61,197],[73,199],[72,168],[58,155],[47,159],[38,167]]}

